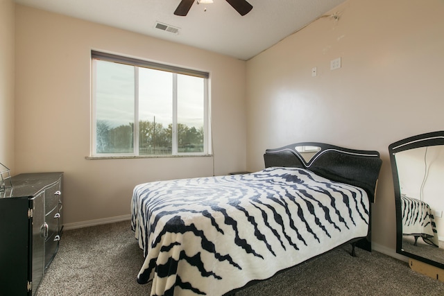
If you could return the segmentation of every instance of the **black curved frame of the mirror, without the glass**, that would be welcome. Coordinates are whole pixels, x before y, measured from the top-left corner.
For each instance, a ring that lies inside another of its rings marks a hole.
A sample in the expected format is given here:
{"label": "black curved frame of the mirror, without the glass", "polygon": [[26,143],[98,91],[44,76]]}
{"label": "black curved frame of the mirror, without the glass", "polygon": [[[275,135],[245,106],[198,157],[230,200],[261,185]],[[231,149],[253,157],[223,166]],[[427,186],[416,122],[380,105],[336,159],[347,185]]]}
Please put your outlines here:
{"label": "black curved frame of the mirror, without the glass", "polygon": [[388,154],[390,155],[391,171],[393,175],[393,186],[395,189],[395,209],[396,209],[396,252],[412,259],[422,261],[424,263],[434,265],[438,268],[444,269],[444,264],[427,259],[416,254],[404,251],[402,249],[402,216],[401,216],[401,189],[398,175],[398,166],[396,166],[395,153],[414,148],[421,148],[425,146],[444,146],[444,131],[427,132],[425,134],[418,134],[407,139],[402,139],[391,143],[388,146]]}

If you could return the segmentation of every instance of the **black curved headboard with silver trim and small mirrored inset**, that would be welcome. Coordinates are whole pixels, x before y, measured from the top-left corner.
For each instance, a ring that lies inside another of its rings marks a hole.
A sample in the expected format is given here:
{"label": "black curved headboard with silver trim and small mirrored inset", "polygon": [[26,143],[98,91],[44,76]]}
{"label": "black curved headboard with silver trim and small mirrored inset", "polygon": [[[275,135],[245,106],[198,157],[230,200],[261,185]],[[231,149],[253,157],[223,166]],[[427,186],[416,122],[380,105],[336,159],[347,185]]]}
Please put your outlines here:
{"label": "black curved headboard with silver trim and small mirrored inset", "polygon": [[[299,146],[319,147],[306,162]],[[302,142],[281,148],[267,149],[264,154],[265,167],[287,166],[306,168],[329,180],[359,186],[367,192],[370,202],[375,201],[375,190],[382,160],[379,152],[354,150],[326,143]]]}

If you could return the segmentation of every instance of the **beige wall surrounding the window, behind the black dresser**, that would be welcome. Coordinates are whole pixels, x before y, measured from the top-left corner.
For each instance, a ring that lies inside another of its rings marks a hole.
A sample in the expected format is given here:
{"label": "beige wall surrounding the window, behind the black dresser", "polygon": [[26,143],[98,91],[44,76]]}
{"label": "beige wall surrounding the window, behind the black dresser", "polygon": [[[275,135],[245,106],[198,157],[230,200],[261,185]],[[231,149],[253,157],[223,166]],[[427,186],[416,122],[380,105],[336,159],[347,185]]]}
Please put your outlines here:
{"label": "beige wall surrounding the window, behind the black dresser", "polygon": [[[15,9],[15,173],[64,171],[65,223],[129,215],[133,187],[141,182],[245,170],[246,62],[26,6]],[[91,49],[209,71],[214,159],[85,159]]]}

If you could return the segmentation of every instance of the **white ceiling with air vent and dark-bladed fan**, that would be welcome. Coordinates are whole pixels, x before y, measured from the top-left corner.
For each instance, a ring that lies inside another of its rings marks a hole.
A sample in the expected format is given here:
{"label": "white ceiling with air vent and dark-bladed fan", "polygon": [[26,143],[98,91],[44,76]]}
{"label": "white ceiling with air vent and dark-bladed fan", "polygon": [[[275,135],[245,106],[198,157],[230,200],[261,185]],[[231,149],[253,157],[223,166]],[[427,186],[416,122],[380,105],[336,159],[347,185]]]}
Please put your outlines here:
{"label": "white ceiling with air vent and dark-bladed fan", "polygon": [[[248,0],[247,15],[225,0],[194,3],[186,17],[173,15],[180,0],[15,0],[16,3],[94,21],[163,40],[249,60],[345,0]],[[206,11],[204,8],[207,8]],[[156,21],[180,28],[172,34]]]}

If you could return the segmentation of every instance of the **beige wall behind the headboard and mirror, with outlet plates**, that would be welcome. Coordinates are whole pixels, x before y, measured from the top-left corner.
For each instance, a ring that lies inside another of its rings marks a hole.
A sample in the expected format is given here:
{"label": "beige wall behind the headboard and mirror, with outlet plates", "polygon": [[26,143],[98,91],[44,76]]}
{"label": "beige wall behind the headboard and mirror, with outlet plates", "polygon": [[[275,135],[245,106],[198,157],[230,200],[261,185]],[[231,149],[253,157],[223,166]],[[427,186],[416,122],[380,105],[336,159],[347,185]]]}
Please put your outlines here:
{"label": "beige wall behind the headboard and mirror, with outlet plates", "polygon": [[334,12],[247,62],[247,169],[291,142],[378,150],[373,243],[393,251],[388,145],[444,128],[444,1],[349,0]]}

